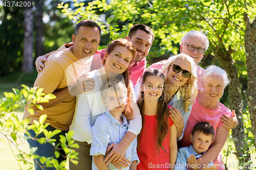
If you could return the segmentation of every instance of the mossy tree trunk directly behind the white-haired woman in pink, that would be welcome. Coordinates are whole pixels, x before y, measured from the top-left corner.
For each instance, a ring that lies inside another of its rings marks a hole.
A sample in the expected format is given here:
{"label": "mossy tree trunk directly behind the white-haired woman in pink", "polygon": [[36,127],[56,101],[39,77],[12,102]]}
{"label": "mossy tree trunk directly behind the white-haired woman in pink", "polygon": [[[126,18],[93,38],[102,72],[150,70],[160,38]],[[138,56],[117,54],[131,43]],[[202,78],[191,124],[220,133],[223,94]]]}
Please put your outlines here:
{"label": "mossy tree trunk directly behind the white-haired woman in pink", "polygon": [[[224,46],[224,44],[222,46]],[[226,48],[222,48],[219,45],[216,48],[215,55],[217,55],[218,61],[227,71],[228,77],[231,79],[230,84],[228,85],[229,109],[235,110],[238,118],[238,126],[232,130],[232,137],[237,150],[237,157],[242,157],[244,152],[241,150],[241,148],[245,148],[246,145],[245,141],[243,140],[246,138],[243,123],[243,98],[238,77],[238,68],[236,67],[231,56],[233,52],[234,51],[230,46],[227,51]],[[245,161],[248,159],[249,158],[246,158]],[[239,159],[239,162],[240,161],[243,160]]]}

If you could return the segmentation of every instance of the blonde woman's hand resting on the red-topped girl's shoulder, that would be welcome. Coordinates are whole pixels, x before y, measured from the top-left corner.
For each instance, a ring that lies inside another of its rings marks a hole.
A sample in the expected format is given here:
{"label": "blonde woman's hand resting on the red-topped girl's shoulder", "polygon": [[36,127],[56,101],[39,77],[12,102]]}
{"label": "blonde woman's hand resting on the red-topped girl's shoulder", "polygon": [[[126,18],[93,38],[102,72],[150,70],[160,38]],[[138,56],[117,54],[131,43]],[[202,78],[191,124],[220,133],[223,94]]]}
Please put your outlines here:
{"label": "blonde woman's hand resting on the red-topped girl's shoulder", "polygon": [[174,125],[177,127],[177,139],[182,135],[183,128],[184,128],[184,120],[183,116],[180,113],[179,109],[172,106],[172,108],[169,108],[169,115],[170,118],[173,120]]}

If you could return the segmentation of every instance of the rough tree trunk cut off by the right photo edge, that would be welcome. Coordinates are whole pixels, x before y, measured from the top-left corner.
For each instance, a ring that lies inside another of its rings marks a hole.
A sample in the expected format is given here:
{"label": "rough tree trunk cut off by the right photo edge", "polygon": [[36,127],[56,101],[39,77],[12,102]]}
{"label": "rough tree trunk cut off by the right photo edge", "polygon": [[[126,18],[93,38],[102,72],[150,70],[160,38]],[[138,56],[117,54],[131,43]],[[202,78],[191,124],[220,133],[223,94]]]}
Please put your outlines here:
{"label": "rough tree trunk cut off by the right photo edge", "polygon": [[246,54],[247,78],[248,78],[248,109],[251,119],[251,128],[254,135],[254,145],[256,147],[256,16],[250,21],[247,13],[244,13],[246,24],[244,46]]}

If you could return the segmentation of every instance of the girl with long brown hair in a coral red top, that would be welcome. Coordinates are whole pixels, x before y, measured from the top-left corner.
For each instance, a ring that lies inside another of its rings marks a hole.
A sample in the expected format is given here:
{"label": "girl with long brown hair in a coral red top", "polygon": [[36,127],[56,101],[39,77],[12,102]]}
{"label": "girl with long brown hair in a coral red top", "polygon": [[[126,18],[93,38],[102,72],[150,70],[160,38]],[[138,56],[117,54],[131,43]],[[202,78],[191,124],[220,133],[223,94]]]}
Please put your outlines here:
{"label": "girl with long brown hair in a coral red top", "polygon": [[[138,135],[137,169],[173,169],[177,158],[177,128],[169,117],[163,98],[165,76],[148,68],[142,77],[138,107],[142,130]],[[173,165],[173,166],[172,166]]]}

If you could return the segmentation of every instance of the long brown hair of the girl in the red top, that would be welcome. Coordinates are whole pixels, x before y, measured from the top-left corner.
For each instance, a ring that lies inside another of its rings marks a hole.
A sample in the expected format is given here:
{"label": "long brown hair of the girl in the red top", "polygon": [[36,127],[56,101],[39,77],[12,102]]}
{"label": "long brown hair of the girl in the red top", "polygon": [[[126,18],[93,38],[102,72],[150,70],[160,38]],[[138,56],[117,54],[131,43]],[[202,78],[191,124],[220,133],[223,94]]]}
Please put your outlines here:
{"label": "long brown hair of the girl in the red top", "polygon": [[[146,78],[149,76],[156,76],[156,77],[161,77],[163,79],[165,79],[165,76],[163,74],[162,71],[160,71],[159,69],[156,68],[148,68],[143,76],[142,76],[142,81],[141,81],[141,85],[143,86]],[[142,117],[142,130],[145,131],[145,133],[151,133],[151,132],[146,132],[146,127],[145,127],[145,117],[144,117],[144,92],[140,91],[139,94],[139,99],[138,99],[138,107],[140,109],[140,114]],[[169,112],[168,112],[168,107],[167,104],[164,102],[164,90],[162,95],[160,96],[160,98],[158,99],[158,108],[157,108],[157,113],[156,113],[156,118],[157,118],[157,125],[156,125],[156,129],[157,129],[157,136],[156,136],[156,140],[157,140],[157,150],[158,153],[160,153],[160,147],[164,150],[163,146],[162,146],[162,141],[163,139],[168,135],[168,130],[169,130],[169,124],[168,124],[168,116],[169,116]],[[137,140],[138,140],[138,151],[140,151],[140,144],[139,140],[141,137],[142,133],[139,133],[137,136]],[[164,152],[167,154],[167,152],[164,150]]]}

